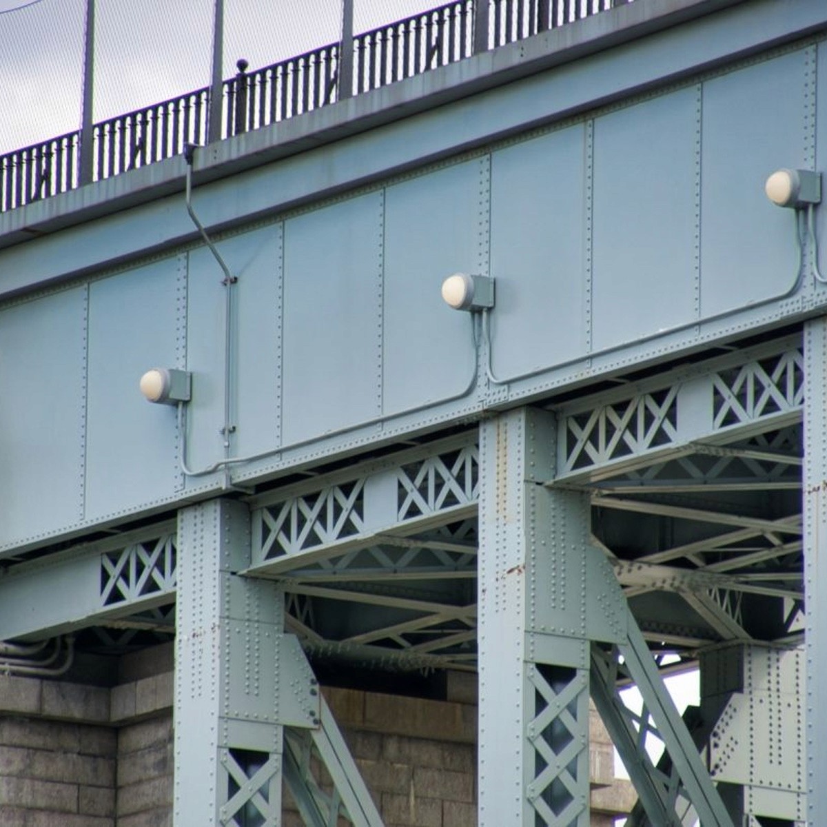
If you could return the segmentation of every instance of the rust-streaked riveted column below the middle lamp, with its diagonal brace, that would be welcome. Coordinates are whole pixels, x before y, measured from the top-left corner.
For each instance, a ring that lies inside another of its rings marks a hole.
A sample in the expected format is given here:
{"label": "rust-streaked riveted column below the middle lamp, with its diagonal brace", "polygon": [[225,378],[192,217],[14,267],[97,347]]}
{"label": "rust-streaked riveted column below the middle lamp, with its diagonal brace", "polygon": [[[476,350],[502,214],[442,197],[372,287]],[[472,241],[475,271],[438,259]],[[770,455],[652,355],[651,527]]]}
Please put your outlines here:
{"label": "rust-streaked riveted column below the middle lamp, with its diagonal brace", "polygon": [[[732,827],[605,552],[590,543],[589,495],[550,488],[552,414],[521,409],[480,434],[480,827],[589,820],[590,670],[609,731],[652,824]],[[619,676],[643,696],[633,715]],[[674,782],[648,761],[648,734]]]}

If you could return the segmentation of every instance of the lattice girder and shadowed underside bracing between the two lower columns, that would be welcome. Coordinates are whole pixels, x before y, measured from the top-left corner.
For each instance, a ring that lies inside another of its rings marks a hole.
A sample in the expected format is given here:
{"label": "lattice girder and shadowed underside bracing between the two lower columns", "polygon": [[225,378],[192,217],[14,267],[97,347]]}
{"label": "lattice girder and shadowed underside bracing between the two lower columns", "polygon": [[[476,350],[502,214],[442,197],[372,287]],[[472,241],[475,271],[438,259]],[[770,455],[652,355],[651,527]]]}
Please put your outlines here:
{"label": "lattice girder and shadowed underside bracing between the two lower columns", "polygon": [[251,575],[308,652],[385,667],[476,660],[476,433],[254,500]]}

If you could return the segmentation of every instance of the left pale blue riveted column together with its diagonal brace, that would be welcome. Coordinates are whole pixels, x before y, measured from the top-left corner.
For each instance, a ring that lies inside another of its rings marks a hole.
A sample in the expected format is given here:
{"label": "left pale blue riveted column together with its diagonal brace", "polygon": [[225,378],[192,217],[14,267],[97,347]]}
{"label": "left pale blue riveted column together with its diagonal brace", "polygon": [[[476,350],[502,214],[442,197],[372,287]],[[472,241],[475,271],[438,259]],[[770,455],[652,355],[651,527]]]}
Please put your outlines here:
{"label": "left pale blue riveted column together with its diagonal brace", "polygon": [[[313,827],[381,827],[276,583],[250,565],[250,511],[213,500],[179,514],[175,827],[281,825],[283,779]],[[327,769],[332,791],[319,782]]]}

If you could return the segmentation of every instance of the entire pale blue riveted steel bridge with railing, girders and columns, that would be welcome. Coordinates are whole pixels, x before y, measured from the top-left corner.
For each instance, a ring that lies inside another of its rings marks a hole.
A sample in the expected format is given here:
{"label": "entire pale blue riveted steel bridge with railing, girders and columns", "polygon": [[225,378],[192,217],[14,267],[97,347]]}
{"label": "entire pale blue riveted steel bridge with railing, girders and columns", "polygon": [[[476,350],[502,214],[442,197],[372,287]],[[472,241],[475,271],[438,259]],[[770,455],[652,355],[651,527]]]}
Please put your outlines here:
{"label": "entire pale blue riveted steel bridge with railing, girders and columns", "polygon": [[632,827],[825,824],[827,6],[607,6],[2,159],[3,651],[174,638],[175,827],[382,824],[331,669],[478,672],[480,827],[588,825],[590,698]]}

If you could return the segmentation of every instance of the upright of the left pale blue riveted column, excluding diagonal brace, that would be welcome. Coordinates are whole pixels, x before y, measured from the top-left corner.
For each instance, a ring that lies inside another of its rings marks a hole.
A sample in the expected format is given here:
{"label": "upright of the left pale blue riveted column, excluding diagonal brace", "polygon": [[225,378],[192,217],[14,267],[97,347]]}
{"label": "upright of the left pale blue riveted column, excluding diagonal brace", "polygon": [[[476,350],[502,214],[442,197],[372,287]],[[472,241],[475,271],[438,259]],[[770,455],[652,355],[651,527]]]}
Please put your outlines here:
{"label": "upright of the left pale blue riveted column, excluding diagonal brace", "polygon": [[[278,825],[284,601],[278,586],[234,574],[250,556],[243,504],[179,514],[175,638],[174,825]],[[296,699],[318,719],[318,695]]]}

